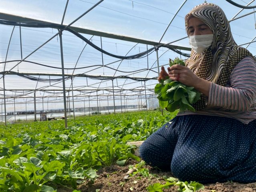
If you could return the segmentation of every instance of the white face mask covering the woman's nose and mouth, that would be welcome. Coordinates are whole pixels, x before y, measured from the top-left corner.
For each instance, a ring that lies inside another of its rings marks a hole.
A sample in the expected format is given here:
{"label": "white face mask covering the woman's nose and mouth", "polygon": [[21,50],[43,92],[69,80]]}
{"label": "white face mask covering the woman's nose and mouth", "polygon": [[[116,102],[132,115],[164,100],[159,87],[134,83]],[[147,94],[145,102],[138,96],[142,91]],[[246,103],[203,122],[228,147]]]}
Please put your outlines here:
{"label": "white face mask covering the woman's nose and mouth", "polygon": [[212,45],[213,34],[189,36],[189,45],[197,53],[201,54],[204,49]]}

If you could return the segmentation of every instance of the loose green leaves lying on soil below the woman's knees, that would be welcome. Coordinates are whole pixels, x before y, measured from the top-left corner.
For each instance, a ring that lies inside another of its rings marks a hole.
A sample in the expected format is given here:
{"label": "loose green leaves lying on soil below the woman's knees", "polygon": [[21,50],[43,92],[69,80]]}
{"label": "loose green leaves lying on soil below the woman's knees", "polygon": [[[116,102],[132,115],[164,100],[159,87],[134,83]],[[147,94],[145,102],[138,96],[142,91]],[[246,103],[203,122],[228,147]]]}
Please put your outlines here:
{"label": "loose green leaves lying on soil below the woman's knees", "polygon": [[149,192],[163,192],[163,189],[168,189],[170,186],[176,185],[179,186],[178,192],[196,192],[199,190],[204,190],[204,185],[198,182],[190,182],[187,181],[182,182],[179,181],[177,178],[169,177],[165,178],[167,181],[165,184],[155,183],[147,187]]}

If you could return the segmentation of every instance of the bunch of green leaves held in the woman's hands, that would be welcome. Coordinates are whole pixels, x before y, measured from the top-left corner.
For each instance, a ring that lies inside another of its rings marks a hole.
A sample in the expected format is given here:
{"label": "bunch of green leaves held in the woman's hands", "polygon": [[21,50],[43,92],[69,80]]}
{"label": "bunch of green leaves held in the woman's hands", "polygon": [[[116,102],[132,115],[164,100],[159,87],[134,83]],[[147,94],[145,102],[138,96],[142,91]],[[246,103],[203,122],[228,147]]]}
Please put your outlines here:
{"label": "bunch of green leaves held in the woman's hands", "polygon": [[[176,64],[185,66],[184,61],[178,57],[174,60],[169,59],[170,67]],[[160,107],[169,112],[173,112],[176,109],[179,109],[180,112],[186,109],[195,111],[191,104],[200,100],[201,95],[194,87],[189,87],[179,81],[172,81],[169,77],[166,77],[165,80],[162,79],[155,85],[155,94],[159,100]]]}

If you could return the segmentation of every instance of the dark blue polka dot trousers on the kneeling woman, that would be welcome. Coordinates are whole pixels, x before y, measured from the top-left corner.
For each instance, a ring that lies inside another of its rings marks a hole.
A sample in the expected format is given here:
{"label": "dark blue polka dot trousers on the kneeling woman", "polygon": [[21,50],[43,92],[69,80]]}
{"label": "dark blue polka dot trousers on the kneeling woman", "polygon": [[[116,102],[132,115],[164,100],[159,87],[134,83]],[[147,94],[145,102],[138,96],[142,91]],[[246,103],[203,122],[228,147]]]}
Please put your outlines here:
{"label": "dark blue polka dot trousers on the kneeling woman", "polygon": [[181,181],[256,182],[256,120],[176,116],[139,148],[143,160]]}

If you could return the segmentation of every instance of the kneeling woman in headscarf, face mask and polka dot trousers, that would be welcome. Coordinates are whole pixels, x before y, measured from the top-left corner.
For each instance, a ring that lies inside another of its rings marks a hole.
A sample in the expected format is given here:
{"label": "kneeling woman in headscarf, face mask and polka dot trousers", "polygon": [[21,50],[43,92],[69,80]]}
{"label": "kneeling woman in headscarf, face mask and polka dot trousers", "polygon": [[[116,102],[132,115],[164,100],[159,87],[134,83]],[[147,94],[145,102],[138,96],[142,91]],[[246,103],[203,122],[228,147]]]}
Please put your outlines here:
{"label": "kneeling woman in headscarf, face mask and polka dot trousers", "polygon": [[204,3],[185,16],[192,47],[186,67],[162,67],[160,79],[202,93],[196,112],[184,111],[140,147],[151,166],[183,181],[256,182],[256,62],[234,42],[220,7]]}

